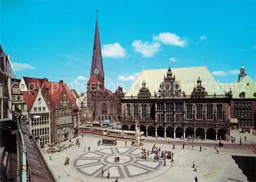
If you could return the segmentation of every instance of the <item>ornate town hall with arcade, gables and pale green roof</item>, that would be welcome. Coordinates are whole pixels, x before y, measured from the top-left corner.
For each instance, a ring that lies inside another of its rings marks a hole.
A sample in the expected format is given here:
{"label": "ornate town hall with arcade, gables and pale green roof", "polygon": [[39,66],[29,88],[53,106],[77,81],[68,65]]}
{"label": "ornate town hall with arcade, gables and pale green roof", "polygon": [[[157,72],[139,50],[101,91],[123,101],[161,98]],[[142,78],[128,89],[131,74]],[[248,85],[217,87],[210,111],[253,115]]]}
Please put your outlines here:
{"label": "ornate town hall with arcade, gables and pale green roof", "polygon": [[[138,120],[146,136],[187,138],[191,135],[212,140],[228,137],[232,92],[224,93],[217,82],[212,83],[205,67],[175,69],[177,76],[169,68],[162,80],[159,79],[160,85],[150,72],[153,71],[140,74],[121,100],[122,129],[135,130]],[[161,72],[155,74],[161,75]],[[190,75],[191,79],[186,80],[184,75]],[[145,79],[150,82],[149,87]],[[138,81],[141,86],[137,85]],[[155,85],[159,85],[158,88]]]}

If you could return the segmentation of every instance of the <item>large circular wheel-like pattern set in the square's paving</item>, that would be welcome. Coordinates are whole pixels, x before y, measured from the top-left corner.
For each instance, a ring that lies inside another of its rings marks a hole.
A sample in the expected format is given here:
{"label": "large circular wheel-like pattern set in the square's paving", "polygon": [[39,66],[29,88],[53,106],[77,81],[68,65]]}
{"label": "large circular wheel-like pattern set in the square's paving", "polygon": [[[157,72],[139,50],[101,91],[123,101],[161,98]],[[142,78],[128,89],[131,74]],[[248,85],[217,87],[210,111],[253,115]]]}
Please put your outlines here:
{"label": "large circular wheel-like pattern set in the square's paving", "polygon": [[[111,177],[129,178],[137,177],[158,170],[163,161],[154,159],[147,161],[139,158],[141,149],[135,147],[110,147],[100,151],[84,153],[74,161],[74,168],[83,175],[101,177],[101,169],[104,176],[110,170]],[[120,162],[115,163],[115,156],[119,156]]]}

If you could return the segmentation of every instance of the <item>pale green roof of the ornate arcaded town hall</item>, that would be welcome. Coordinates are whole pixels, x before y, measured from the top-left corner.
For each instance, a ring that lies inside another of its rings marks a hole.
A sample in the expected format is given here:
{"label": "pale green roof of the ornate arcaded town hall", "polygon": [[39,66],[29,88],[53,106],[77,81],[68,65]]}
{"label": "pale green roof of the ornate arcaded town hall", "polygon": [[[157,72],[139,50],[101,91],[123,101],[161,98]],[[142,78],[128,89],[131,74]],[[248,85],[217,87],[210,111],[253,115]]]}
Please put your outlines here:
{"label": "pale green roof of the ornate arcaded town hall", "polygon": [[[125,96],[137,96],[143,80],[152,95],[154,92],[158,93],[159,85],[164,81],[166,73],[167,69],[142,71]],[[198,77],[202,80],[202,86],[205,87],[208,95],[224,94],[223,89],[205,66],[174,68],[172,73],[175,75],[176,81],[179,81],[182,92],[184,91],[186,95],[193,92],[194,87],[197,86]]]}

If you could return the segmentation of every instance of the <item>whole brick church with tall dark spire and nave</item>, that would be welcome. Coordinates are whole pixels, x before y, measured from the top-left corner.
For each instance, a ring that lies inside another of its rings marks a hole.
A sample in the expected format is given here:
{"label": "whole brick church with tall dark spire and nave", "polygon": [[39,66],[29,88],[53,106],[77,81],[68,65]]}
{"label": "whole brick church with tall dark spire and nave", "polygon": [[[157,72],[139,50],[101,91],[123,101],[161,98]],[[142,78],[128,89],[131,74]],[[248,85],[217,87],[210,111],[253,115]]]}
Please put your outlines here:
{"label": "whole brick church with tall dark spire and nave", "polygon": [[[93,113],[90,120],[119,120],[122,113],[120,102],[122,96],[121,87],[118,87],[115,93],[105,88],[98,21],[96,19],[91,75],[87,83],[87,105]],[[87,111],[88,108],[84,111]],[[81,116],[83,115],[86,115],[86,113],[81,112]]]}

